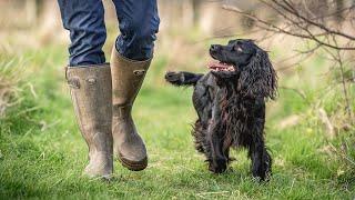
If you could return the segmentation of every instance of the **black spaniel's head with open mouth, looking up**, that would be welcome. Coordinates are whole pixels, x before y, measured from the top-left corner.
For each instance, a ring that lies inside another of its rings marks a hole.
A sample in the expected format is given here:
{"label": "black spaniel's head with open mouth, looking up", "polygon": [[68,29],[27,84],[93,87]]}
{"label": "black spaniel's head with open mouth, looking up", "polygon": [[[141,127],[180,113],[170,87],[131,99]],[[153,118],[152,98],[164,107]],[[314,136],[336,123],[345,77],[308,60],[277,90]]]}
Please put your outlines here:
{"label": "black spaniel's head with open mouth, looking up", "polygon": [[217,82],[236,83],[237,91],[251,98],[274,99],[277,92],[276,72],[267,52],[252,40],[231,40],[226,46],[212,44],[209,64]]}

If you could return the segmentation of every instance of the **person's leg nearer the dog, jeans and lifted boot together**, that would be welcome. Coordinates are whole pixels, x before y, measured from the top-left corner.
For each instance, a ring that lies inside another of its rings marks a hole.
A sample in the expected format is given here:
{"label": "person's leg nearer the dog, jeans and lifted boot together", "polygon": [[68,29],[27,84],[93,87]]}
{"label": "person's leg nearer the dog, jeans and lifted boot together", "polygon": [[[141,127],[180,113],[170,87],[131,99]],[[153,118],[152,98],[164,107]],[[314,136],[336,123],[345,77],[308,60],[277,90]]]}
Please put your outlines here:
{"label": "person's leg nearer the dog, jeans and lifted boot together", "polygon": [[144,142],[134,126],[131,110],[153,57],[159,28],[156,0],[113,0],[121,34],[112,48],[113,149],[130,170],[148,166]]}

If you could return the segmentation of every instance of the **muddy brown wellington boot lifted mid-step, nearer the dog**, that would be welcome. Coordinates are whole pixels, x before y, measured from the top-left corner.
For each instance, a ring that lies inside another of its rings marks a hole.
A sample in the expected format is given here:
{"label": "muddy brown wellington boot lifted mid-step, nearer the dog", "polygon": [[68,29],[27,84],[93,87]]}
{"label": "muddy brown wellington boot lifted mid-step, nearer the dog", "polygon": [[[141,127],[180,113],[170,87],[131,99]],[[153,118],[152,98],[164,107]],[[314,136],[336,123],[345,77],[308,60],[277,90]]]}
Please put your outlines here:
{"label": "muddy brown wellington boot lifted mid-step, nearer the dog", "polygon": [[148,166],[146,149],[131,111],[150,63],[151,59],[133,61],[119,54],[115,48],[112,50],[113,150],[122,166],[133,171],[143,170]]}

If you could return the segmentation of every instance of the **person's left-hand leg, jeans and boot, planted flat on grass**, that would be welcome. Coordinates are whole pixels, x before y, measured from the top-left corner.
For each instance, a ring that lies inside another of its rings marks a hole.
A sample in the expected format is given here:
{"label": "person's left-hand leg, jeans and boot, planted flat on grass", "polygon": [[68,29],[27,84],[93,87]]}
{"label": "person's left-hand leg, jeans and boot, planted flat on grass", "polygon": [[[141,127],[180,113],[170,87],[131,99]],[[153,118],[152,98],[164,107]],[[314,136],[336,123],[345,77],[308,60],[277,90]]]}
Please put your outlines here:
{"label": "person's left-hand leg, jeans and boot, planted flat on grass", "polygon": [[102,46],[105,41],[101,0],[58,0],[63,26],[70,31],[65,78],[80,131],[89,147],[90,177],[113,171],[112,81]]}

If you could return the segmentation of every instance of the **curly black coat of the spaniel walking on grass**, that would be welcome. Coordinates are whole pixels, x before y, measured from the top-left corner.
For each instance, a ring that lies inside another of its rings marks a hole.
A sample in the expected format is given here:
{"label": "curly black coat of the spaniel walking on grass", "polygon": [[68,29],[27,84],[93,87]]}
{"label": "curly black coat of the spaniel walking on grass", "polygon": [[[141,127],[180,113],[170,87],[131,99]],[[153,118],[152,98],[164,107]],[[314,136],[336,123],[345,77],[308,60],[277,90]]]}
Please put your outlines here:
{"label": "curly black coat of the spaniel walking on grass", "polygon": [[[235,51],[235,47],[244,52]],[[276,97],[276,72],[267,53],[251,40],[212,46],[210,53],[216,60],[232,63],[235,70],[165,74],[172,84],[194,86],[193,104],[199,114],[192,131],[195,148],[205,154],[209,169],[215,173],[225,171],[231,147],[246,148],[253,176],[266,180],[272,158],[264,142],[265,100]]]}

